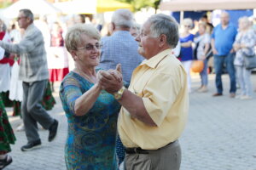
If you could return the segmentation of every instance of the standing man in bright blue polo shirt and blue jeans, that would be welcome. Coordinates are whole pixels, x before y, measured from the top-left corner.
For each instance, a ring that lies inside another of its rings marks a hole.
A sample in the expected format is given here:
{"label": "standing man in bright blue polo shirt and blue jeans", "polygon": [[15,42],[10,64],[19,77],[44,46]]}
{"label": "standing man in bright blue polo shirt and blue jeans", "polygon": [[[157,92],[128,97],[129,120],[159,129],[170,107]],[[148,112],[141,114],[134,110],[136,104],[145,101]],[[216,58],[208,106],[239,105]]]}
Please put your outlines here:
{"label": "standing man in bright blue polo shirt and blue jeans", "polygon": [[236,39],[236,27],[230,23],[230,15],[223,12],[220,15],[221,23],[216,26],[212,31],[212,53],[214,57],[214,70],[215,70],[215,84],[217,93],[212,96],[223,95],[223,85],[221,75],[224,71],[224,64],[226,71],[230,76],[230,98],[236,96],[236,74],[234,66],[235,51],[233,43]]}

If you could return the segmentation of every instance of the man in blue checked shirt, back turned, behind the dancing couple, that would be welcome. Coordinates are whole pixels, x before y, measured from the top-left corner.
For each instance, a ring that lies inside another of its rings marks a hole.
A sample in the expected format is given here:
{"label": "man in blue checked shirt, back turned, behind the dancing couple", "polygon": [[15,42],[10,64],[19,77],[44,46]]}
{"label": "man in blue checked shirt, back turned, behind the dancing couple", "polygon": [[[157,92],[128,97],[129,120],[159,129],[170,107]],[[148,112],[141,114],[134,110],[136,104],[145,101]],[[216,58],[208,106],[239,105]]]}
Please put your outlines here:
{"label": "man in blue checked shirt, back turned, behind the dancing couple", "polygon": [[117,64],[122,65],[123,78],[130,83],[132,71],[143,61],[137,53],[137,42],[131,36],[133,15],[128,9],[118,9],[113,13],[111,20],[112,35],[102,37],[102,54],[99,68],[104,70],[115,69]]}

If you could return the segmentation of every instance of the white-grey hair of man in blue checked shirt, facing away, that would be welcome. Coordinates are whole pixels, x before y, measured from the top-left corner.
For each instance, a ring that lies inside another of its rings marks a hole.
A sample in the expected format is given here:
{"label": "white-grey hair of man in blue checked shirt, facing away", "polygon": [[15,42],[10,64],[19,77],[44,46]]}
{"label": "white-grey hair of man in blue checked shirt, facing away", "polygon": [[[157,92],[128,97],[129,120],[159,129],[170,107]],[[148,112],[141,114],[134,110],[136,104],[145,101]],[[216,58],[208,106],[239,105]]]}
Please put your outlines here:
{"label": "white-grey hair of man in blue checked shirt, facing away", "polygon": [[115,26],[131,28],[133,22],[133,15],[130,10],[120,8],[114,11],[111,21]]}

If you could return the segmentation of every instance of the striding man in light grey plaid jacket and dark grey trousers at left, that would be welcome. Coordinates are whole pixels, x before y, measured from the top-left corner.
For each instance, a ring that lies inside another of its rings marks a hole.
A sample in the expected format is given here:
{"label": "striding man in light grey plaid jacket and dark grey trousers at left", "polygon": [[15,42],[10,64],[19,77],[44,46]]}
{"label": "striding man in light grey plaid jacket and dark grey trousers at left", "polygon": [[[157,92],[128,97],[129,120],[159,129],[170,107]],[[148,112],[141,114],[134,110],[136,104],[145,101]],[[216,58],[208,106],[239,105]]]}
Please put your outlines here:
{"label": "striding man in light grey plaid jacket and dark grey trousers at left", "polygon": [[17,20],[20,28],[25,30],[24,37],[16,44],[0,41],[0,46],[9,53],[20,54],[19,77],[23,86],[21,114],[28,140],[21,150],[27,151],[41,145],[37,122],[49,129],[49,142],[55,139],[58,122],[40,104],[49,78],[42,32],[34,26],[34,17],[29,9],[20,9]]}

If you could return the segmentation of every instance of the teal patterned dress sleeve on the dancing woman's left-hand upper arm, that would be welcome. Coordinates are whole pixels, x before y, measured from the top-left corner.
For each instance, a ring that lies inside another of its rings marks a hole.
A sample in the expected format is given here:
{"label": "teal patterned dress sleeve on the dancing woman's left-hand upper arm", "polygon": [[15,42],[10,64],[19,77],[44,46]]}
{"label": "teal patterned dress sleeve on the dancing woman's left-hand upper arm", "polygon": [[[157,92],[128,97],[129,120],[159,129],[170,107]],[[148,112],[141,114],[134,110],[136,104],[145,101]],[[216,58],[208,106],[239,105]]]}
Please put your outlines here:
{"label": "teal patterned dress sleeve on the dancing woman's left-hand upper arm", "polygon": [[68,77],[61,83],[60,97],[67,114],[74,115],[75,101],[82,94],[81,85],[76,78]]}

